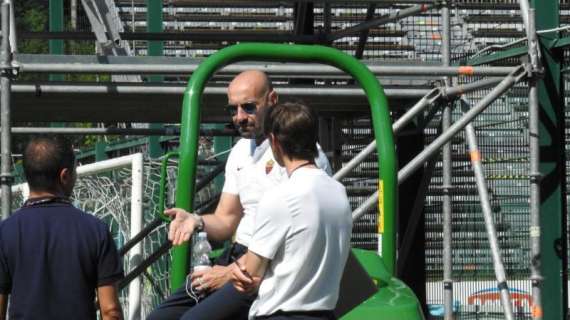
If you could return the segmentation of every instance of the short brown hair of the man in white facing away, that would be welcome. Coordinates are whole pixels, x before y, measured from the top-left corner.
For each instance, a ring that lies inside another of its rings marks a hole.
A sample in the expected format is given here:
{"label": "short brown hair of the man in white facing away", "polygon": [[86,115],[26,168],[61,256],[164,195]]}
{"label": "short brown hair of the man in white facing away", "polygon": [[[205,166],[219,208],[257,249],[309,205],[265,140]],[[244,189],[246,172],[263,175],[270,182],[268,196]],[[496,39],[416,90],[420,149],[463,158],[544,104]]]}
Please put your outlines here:
{"label": "short brown hair of the man in white facing away", "polygon": [[300,102],[285,102],[267,108],[263,115],[263,133],[273,134],[291,158],[314,161],[317,151],[317,116]]}

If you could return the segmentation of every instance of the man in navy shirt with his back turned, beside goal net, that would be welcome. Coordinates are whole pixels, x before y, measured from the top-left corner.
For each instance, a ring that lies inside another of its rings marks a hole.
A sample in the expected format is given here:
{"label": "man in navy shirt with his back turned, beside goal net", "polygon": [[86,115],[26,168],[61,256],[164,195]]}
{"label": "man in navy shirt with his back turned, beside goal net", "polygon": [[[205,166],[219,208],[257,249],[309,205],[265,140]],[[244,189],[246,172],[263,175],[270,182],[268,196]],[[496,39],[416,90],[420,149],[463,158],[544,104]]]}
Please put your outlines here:
{"label": "man in navy shirt with his back turned, beside goal net", "polygon": [[[107,225],[70,201],[75,156],[62,137],[24,152],[30,196],[0,223],[0,319],[122,319],[123,267]],[[8,305],[9,300],[9,305]],[[9,309],[8,309],[9,306]],[[8,309],[8,310],[7,310]]]}

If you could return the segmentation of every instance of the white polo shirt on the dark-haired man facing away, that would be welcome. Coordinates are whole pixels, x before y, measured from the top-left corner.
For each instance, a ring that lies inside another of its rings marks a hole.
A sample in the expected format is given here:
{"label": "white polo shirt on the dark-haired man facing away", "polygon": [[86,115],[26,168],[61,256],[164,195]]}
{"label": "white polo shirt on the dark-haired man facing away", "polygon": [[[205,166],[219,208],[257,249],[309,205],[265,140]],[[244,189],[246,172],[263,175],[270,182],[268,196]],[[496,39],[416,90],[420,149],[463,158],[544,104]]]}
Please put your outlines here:
{"label": "white polo shirt on the dark-haired man facing away", "polygon": [[259,203],[249,251],[271,260],[249,317],[333,310],[350,250],[346,190],[322,170],[299,168]]}

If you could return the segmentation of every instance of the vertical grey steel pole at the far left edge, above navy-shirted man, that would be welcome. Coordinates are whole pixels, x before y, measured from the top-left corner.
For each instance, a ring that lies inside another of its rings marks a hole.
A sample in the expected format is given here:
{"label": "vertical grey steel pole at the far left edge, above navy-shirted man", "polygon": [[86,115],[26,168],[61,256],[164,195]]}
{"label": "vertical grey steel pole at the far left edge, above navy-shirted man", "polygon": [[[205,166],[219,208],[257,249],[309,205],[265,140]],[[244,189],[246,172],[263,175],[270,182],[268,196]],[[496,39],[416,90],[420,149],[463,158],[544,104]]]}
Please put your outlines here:
{"label": "vertical grey steel pole at the far left edge, above navy-shirted man", "polygon": [[12,75],[12,53],[10,50],[10,2],[2,2],[2,70],[0,75],[0,126],[1,164],[0,183],[2,184],[2,219],[8,218],[12,204],[11,136],[10,136],[10,77]]}

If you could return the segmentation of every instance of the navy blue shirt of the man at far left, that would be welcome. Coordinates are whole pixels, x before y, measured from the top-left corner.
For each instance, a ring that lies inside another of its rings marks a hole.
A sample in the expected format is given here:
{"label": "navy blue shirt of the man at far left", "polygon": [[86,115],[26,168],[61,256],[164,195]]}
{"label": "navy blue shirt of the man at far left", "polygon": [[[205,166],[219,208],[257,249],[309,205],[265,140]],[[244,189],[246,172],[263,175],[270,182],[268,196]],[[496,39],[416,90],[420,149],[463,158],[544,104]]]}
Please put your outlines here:
{"label": "navy blue shirt of the man at far left", "polygon": [[95,291],[123,277],[107,225],[66,203],[0,223],[0,293],[10,319],[95,319]]}

